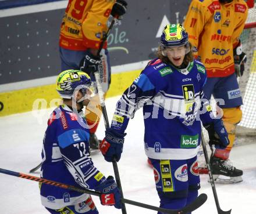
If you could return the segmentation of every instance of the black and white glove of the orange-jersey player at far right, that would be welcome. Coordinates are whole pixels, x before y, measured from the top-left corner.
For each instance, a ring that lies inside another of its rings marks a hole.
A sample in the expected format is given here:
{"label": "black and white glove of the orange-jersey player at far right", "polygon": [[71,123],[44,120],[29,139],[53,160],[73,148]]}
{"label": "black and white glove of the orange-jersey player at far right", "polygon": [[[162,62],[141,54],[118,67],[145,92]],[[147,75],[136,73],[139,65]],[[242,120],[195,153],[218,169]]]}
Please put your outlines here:
{"label": "black and white glove of the orange-jersey player at far right", "polygon": [[246,63],[247,57],[246,53],[242,50],[241,41],[239,40],[238,45],[233,50],[234,55],[234,70],[236,71],[236,76],[241,77],[244,74],[244,64]]}

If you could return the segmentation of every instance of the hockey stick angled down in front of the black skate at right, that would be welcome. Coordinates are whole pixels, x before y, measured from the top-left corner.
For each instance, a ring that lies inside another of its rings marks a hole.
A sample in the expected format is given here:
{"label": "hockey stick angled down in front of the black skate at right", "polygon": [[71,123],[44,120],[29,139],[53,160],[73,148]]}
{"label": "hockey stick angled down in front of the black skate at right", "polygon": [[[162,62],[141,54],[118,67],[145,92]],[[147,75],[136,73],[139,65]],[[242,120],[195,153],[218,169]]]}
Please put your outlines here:
{"label": "hockey stick angled down in front of the black skate at right", "polygon": [[218,195],[216,192],[216,188],[215,188],[215,184],[214,184],[214,178],[212,176],[212,170],[210,167],[210,162],[209,162],[209,158],[208,158],[208,154],[207,154],[207,149],[205,146],[205,140],[204,140],[204,134],[201,132],[201,141],[202,141],[202,150],[204,151],[204,157],[205,157],[205,162],[207,165],[207,169],[208,169],[208,174],[209,174],[209,179],[211,182],[211,186],[212,186],[212,192],[214,193],[214,200],[215,200],[215,204],[217,207],[217,211],[218,214],[230,214],[231,213],[231,209],[229,211],[222,211],[221,206],[219,206],[219,200],[218,200]]}

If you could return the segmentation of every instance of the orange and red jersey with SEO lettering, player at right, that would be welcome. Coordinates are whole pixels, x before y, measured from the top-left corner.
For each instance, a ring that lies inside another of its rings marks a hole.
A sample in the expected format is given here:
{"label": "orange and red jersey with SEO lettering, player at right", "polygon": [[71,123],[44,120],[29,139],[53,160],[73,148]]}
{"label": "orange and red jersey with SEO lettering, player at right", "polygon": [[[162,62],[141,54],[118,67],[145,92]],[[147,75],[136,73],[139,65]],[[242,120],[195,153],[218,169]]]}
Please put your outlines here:
{"label": "orange and red jersey with SEO lettering, player at right", "polygon": [[207,68],[208,77],[226,77],[234,72],[233,48],[243,31],[248,9],[243,0],[221,4],[193,0],[184,27],[189,41]]}

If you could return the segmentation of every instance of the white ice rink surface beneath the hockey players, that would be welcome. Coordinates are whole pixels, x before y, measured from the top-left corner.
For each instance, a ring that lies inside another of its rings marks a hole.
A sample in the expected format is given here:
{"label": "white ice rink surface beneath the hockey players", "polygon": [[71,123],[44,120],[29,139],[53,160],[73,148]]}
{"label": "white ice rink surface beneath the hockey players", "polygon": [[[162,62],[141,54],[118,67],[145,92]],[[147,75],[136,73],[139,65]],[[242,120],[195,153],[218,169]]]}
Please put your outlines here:
{"label": "white ice rink surface beneath the hockey players", "polygon": [[[115,103],[119,97],[106,100],[109,121],[112,119]],[[0,168],[29,173],[41,162],[41,147],[48,116],[51,110],[0,117]],[[38,117],[35,117],[37,115]],[[159,127],[161,128],[161,127]],[[97,130],[99,139],[104,137],[103,119]],[[159,206],[155,190],[154,175],[147,165],[143,144],[143,113],[137,111],[130,120],[123,148],[118,162],[120,179],[125,198]],[[256,139],[255,139],[256,140]],[[237,184],[216,184],[219,203],[223,211],[232,209],[233,214],[256,213],[256,143],[234,147],[230,155],[234,166],[244,171],[243,182]],[[95,166],[104,175],[114,175],[112,164],[105,162],[100,153],[93,155]],[[39,171],[33,174],[40,176]],[[206,193],[208,200],[193,213],[217,213],[208,175],[201,176],[200,193]],[[102,206],[97,197],[94,202],[99,213],[115,214],[121,210],[112,206]],[[41,205],[38,183],[0,173],[0,213],[1,214],[47,214]],[[137,206],[126,205],[127,214],[157,213]]]}

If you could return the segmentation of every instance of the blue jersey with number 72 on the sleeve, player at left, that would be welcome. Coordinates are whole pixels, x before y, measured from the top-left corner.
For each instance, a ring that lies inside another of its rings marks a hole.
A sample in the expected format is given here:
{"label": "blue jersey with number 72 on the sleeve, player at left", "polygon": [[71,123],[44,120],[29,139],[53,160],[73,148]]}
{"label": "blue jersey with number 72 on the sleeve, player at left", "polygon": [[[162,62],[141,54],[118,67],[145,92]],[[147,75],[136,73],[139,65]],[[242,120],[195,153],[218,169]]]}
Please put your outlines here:
{"label": "blue jersey with number 72 on the sleeve, player at left", "polygon": [[[89,154],[86,121],[66,105],[59,106],[48,120],[42,148],[41,177],[76,187],[94,189],[105,181]],[[89,195],[42,183],[42,205],[51,209],[79,204]]]}

